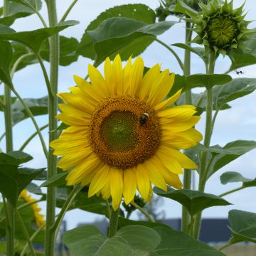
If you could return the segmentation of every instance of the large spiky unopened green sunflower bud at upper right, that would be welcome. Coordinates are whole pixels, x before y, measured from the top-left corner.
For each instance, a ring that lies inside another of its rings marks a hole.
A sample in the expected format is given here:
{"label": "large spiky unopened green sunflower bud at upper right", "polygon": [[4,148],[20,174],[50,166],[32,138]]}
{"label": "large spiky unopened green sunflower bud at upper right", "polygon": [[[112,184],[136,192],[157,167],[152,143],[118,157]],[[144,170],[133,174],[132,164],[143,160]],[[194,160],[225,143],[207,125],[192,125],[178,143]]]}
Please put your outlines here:
{"label": "large spiky unopened green sunflower bud at upper right", "polygon": [[250,21],[244,20],[244,4],[233,9],[233,1],[219,3],[218,0],[208,1],[208,4],[200,3],[202,15],[191,18],[196,23],[195,31],[198,33],[193,43],[203,44],[206,53],[215,52],[232,57],[233,50],[241,48],[247,39],[250,33],[247,25]]}

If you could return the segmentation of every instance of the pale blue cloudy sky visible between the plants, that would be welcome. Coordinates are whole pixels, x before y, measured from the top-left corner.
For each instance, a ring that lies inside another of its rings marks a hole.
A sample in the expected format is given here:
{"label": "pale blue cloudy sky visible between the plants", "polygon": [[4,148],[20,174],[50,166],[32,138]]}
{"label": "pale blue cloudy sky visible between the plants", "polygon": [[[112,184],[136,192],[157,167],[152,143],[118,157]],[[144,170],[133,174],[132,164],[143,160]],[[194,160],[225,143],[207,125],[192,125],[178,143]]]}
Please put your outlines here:
{"label": "pale blue cloudy sky visible between the plants", "polygon": [[[72,1],[57,1],[58,18],[61,18]],[[0,0],[0,6],[3,0]],[[95,0],[95,1],[78,1],[78,3],[73,8],[73,11],[68,16],[70,20],[80,21],[80,24],[66,29],[60,34],[63,36],[72,36],[75,38],[82,37],[85,28],[88,26],[90,21],[95,19],[102,11],[105,11],[112,6],[117,6],[121,4],[132,4],[132,3],[142,3],[147,4],[151,9],[156,9],[159,6],[158,0]],[[243,0],[234,0],[233,4],[235,7],[240,6]],[[255,20],[256,11],[256,1],[247,0],[245,3],[245,11],[247,11],[246,20]],[[43,1],[43,9],[41,10],[43,18],[47,20],[46,5]],[[171,18],[170,20],[174,20]],[[41,28],[42,25],[38,20],[38,17],[33,15],[26,18],[20,18],[14,23],[13,26],[16,31],[30,31],[33,29]],[[256,22],[250,23],[250,28],[256,27]],[[184,24],[178,23],[173,26],[169,31],[166,31],[163,35],[159,36],[161,41],[167,44],[181,43],[184,38]],[[178,55],[183,56],[183,51],[180,49],[175,49]],[[176,63],[174,57],[169,53],[166,48],[160,46],[158,43],[152,43],[144,53],[142,53],[142,58],[144,58],[144,64],[147,67],[151,67],[156,63],[161,63],[161,68],[164,70],[169,68],[171,72],[181,74],[181,69]],[[182,57],[183,58],[183,57]],[[73,75],[79,75],[85,77],[87,75],[87,65],[91,63],[92,60],[79,57],[76,63],[69,65],[68,67],[60,67],[59,71],[59,92],[67,92],[68,87],[73,86]],[[215,65],[215,73],[223,73],[227,70],[230,64],[228,58],[218,58]],[[48,63],[46,63],[46,68],[49,68]],[[256,65],[251,65],[242,68],[242,72],[247,78],[256,78],[255,73]],[[100,66],[102,70],[102,66]],[[204,73],[204,65],[201,60],[196,56],[192,55],[191,61],[191,73]],[[234,78],[241,77],[231,73]],[[16,90],[20,93],[22,97],[43,97],[47,94],[46,85],[43,80],[43,75],[41,73],[41,68],[39,65],[31,65],[21,71],[18,71],[14,76],[14,86]],[[198,90],[197,90],[198,91]],[[3,93],[3,88],[0,85],[0,94]],[[215,129],[213,132],[213,137],[211,144],[220,144],[224,146],[228,142],[232,142],[237,139],[247,139],[256,140],[255,130],[256,130],[256,92],[246,97],[242,97],[234,102],[230,102],[232,108],[230,110],[225,110],[218,114],[218,118],[215,122]],[[47,117],[41,116],[36,117],[39,126],[47,123]],[[204,133],[205,117],[202,116],[201,121],[196,125],[196,129]],[[4,115],[0,112],[0,134],[4,132]],[[33,124],[31,124],[30,119],[26,119],[23,122],[17,124],[14,127],[14,149],[18,149],[21,144],[34,132]],[[46,131],[43,132],[43,136],[46,139],[48,134]],[[4,140],[0,142],[1,149],[4,151]],[[26,153],[31,154],[34,159],[30,161],[26,166],[39,168],[46,166],[46,159],[43,155],[41,144],[38,137],[33,139],[33,142],[26,147]],[[235,161],[231,162],[223,169],[214,174],[206,185],[206,193],[213,193],[219,195],[230,189],[237,188],[240,183],[230,183],[223,186],[220,183],[220,175],[225,171],[237,171],[247,178],[256,177],[256,162],[255,162],[256,150],[250,151],[249,153],[241,156]],[[196,176],[197,181],[197,176]],[[203,212],[204,218],[227,218],[228,211],[231,209],[240,209],[247,211],[256,211],[256,201],[255,201],[256,188],[245,188],[239,193],[233,193],[226,196],[225,199],[232,206],[220,206],[215,208],[208,208]],[[45,212],[46,207],[44,203],[41,203],[43,212]],[[175,201],[164,199],[164,204],[161,210],[165,210],[166,218],[178,218],[181,216],[181,205]],[[92,213],[87,213],[82,210],[70,210],[66,216],[65,220],[68,221],[68,228],[75,228],[78,223],[84,222],[89,223],[93,220],[101,219],[101,215],[95,215]],[[132,218],[137,218],[137,215],[133,214]]]}

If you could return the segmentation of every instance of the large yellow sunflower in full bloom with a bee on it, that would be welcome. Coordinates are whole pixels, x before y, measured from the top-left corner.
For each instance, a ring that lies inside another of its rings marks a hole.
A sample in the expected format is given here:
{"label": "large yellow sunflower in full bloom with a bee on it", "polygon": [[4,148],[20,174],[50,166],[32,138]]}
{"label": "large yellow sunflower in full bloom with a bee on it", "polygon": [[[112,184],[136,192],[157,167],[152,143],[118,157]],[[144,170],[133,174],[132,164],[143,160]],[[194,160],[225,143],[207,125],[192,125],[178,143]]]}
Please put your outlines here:
{"label": "large yellow sunflower in full bloom with a bee on it", "polygon": [[122,68],[119,55],[105,60],[105,78],[92,65],[90,82],[74,76],[77,87],[59,93],[57,118],[70,127],[50,143],[63,156],[58,167],[69,172],[67,185],[90,184],[88,196],[112,197],[116,210],[124,197],[130,203],[136,191],[150,200],[151,184],[166,191],[166,183],[182,188],[178,174],[196,164],[178,149],[202,139],[193,126],[200,117],[190,105],[170,107],[181,90],[165,100],[174,74],[160,65],[143,75],[144,63],[129,58]]}

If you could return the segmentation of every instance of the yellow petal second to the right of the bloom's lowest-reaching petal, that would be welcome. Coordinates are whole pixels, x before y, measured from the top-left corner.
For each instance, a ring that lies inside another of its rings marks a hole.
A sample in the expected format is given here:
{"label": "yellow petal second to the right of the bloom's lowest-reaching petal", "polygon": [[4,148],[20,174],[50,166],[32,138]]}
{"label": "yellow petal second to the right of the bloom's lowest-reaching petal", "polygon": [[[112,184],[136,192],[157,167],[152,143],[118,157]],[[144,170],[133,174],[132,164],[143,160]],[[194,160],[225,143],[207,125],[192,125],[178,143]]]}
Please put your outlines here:
{"label": "yellow petal second to the right of the bloom's lowest-reaching petal", "polygon": [[137,187],[139,193],[146,200],[149,197],[149,174],[144,164],[137,165]]}

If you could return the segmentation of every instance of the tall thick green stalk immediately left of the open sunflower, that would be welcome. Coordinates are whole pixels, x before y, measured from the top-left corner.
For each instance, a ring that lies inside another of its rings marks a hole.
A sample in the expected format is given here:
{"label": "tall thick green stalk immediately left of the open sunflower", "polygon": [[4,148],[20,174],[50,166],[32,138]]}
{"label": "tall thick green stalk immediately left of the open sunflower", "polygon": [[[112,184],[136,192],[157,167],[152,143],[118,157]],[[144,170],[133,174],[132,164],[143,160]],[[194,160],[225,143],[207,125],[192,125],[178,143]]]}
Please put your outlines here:
{"label": "tall thick green stalk immediately left of the open sunflower", "polygon": [[[57,11],[55,0],[46,1],[49,25],[56,26],[57,21]],[[59,36],[55,34],[50,37],[50,87],[53,92],[49,95],[49,143],[57,138],[57,120],[55,115],[57,114],[57,97],[55,96],[58,91],[58,63],[59,63]],[[47,178],[53,177],[57,174],[57,158],[53,156],[53,149],[49,148],[48,156],[48,172]],[[55,222],[55,188],[47,188],[47,198],[46,198],[46,243],[45,243],[45,255],[53,256],[55,248],[55,232],[52,229]]]}

